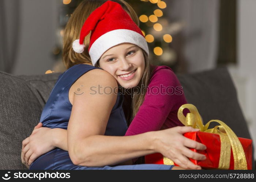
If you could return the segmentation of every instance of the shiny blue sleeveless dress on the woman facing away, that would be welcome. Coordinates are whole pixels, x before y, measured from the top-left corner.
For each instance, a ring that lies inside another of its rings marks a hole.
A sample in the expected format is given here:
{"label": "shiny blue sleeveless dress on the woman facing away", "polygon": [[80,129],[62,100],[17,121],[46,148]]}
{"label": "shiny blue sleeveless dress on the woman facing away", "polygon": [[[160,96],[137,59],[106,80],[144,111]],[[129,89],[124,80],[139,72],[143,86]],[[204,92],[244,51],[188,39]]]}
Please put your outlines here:
{"label": "shiny blue sleeveless dress on the woman facing away", "polygon": [[[77,64],[61,74],[50,93],[45,107],[42,111],[40,122],[44,127],[67,129],[71,115],[72,104],[68,99],[68,92],[72,84],[87,71],[96,69],[87,64]],[[81,94],[79,90],[76,94]],[[127,130],[123,108],[123,95],[118,93],[116,103],[110,113],[105,135],[123,136]],[[85,108],[86,109],[86,108]],[[30,165],[30,170],[170,170],[173,166],[142,164],[86,167],[74,165],[69,157],[68,151],[55,148],[41,155]]]}

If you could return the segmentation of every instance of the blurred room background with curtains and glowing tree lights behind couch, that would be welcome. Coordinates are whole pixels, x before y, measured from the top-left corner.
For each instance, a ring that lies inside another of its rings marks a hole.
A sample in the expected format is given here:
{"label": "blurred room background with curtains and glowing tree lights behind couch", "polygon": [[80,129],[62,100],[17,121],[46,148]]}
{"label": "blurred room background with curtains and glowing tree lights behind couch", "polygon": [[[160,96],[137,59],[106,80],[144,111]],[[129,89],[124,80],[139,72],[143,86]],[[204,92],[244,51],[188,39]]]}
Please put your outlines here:
{"label": "blurred room background with curtains and glowing tree lights behind couch", "polygon": [[[0,0],[0,71],[65,71],[64,27],[81,1]],[[256,146],[256,0],[126,1],[140,19],[152,64],[179,74],[228,67]]]}

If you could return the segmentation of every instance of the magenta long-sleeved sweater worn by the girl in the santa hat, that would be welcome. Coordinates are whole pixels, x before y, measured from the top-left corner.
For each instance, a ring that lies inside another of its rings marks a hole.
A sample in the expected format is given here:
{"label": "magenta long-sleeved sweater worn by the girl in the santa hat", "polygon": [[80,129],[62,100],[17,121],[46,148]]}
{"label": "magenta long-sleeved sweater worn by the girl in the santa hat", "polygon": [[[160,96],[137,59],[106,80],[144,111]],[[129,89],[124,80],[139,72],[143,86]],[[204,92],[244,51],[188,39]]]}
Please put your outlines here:
{"label": "magenta long-sleeved sweater worn by the girl in the santa hat", "polygon": [[125,136],[183,126],[177,118],[177,112],[186,103],[181,84],[172,69],[156,66],[144,102]]}

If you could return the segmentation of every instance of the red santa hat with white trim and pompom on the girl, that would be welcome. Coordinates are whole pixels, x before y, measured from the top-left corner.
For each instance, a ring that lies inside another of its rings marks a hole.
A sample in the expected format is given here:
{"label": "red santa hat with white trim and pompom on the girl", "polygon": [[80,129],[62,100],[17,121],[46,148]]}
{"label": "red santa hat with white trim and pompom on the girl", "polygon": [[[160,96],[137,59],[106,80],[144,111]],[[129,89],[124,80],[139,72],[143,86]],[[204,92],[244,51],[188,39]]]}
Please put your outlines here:
{"label": "red santa hat with white trim and pompom on the girl", "polygon": [[91,31],[89,55],[93,65],[109,48],[121,43],[132,43],[148,54],[147,41],[140,28],[124,11],[120,4],[106,1],[86,19],[80,32],[80,39],[73,42],[73,50],[84,51],[84,38]]}

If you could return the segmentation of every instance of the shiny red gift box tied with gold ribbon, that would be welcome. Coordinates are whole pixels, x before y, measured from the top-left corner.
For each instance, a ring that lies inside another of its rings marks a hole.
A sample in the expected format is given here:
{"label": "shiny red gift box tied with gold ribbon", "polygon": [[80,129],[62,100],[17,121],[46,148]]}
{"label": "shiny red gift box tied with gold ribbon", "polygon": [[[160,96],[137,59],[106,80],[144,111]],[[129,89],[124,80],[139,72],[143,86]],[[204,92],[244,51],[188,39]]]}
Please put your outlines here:
{"label": "shiny red gift box tied with gold ribbon", "polygon": [[[197,142],[203,143],[207,147],[207,149],[204,151],[191,149],[192,151],[206,155],[206,159],[204,161],[196,161],[194,159],[190,159],[191,162],[201,166],[203,169],[218,169],[221,152],[221,140],[218,134],[198,131],[185,133],[184,136]],[[252,140],[239,137],[238,139],[241,142],[242,148],[244,149],[247,169],[252,169]],[[170,163],[168,162],[170,162],[170,159],[164,159],[163,155],[160,153],[145,156],[145,163],[147,164],[153,163],[170,165]],[[174,165],[176,164],[174,163]],[[234,158],[232,149],[230,154],[229,169],[234,169]]]}

